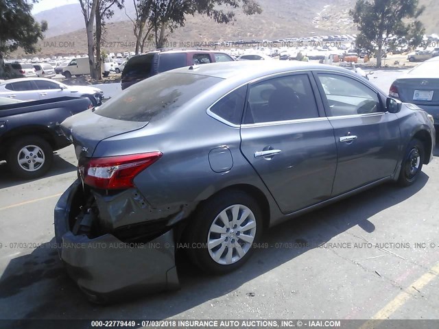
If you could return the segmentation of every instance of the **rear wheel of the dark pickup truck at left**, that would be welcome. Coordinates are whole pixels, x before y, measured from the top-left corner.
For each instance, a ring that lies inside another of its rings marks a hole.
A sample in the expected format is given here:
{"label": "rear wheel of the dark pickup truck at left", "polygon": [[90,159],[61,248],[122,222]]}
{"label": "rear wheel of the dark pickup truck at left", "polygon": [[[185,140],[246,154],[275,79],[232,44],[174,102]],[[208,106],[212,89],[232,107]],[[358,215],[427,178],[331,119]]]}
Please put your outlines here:
{"label": "rear wheel of the dark pickup truck at left", "polygon": [[[23,163],[20,164],[20,160]],[[6,162],[14,175],[30,180],[45,175],[53,160],[54,150],[47,141],[38,136],[25,136],[12,143]]]}

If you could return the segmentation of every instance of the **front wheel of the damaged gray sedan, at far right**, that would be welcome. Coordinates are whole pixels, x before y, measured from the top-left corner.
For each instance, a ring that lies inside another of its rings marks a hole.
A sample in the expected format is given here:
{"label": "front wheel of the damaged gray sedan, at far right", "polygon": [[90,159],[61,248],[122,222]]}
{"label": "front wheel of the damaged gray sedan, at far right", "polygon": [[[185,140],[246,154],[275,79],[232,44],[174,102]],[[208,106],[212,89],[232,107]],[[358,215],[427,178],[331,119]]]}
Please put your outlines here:
{"label": "front wheel of the damaged gray sedan, at far right", "polygon": [[398,178],[400,186],[410,186],[416,182],[420,171],[423,169],[424,156],[423,143],[416,138],[412,139],[405,151],[401,164],[401,172]]}

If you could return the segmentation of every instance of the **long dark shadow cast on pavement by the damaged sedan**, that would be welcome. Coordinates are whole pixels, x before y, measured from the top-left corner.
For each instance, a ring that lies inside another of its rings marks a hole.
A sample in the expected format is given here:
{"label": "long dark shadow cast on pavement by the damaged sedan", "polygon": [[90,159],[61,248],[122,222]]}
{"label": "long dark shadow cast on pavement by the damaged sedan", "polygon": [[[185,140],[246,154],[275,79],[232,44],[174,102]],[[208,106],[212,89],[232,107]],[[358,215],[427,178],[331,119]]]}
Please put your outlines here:
{"label": "long dark shadow cast on pavement by the damaged sedan", "polygon": [[[32,254],[13,258],[5,266],[0,278],[0,319],[164,319],[206,302],[213,307],[217,305],[215,298],[225,295],[244,298],[248,307],[252,307],[252,303],[257,303],[257,298],[252,300],[252,297],[261,296],[258,296],[257,288],[253,291],[243,288],[246,282],[318,248],[354,226],[366,231],[364,235],[367,236],[375,231],[370,217],[409,199],[428,180],[429,177],[421,173],[416,183],[407,188],[383,184],[275,226],[263,236],[262,243],[269,247],[255,250],[248,263],[224,276],[207,276],[193,267],[185,256],[179,255],[179,291],[127,296],[127,300],[107,306],[86,301],[64,271],[52,239],[34,249]],[[385,218],[379,218],[375,217],[375,221],[385,221]],[[286,243],[297,243],[298,246],[274,247]],[[292,267],[289,271],[295,277],[294,271],[302,269]],[[294,284],[301,289],[304,282]],[[230,315],[231,318],[237,318],[236,314]],[[193,315],[201,319],[206,316],[209,315]]]}

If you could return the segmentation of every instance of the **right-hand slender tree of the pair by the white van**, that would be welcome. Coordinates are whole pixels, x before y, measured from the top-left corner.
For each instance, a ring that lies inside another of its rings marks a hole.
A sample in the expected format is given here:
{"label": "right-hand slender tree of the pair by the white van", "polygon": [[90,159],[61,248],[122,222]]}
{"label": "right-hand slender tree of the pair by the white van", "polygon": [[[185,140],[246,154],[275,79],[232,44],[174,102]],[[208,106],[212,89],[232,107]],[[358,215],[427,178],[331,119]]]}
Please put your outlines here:
{"label": "right-hand slender tree of the pair by the white van", "polygon": [[102,35],[105,33],[105,19],[110,19],[115,12],[111,9],[112,6],[117,5],[117,8],[123,8],[123,0],[98,0],[96,6],[96,63],[94,66],[95,77],[98,80],[102,79],[102,51],[101,51],[101,40]]}

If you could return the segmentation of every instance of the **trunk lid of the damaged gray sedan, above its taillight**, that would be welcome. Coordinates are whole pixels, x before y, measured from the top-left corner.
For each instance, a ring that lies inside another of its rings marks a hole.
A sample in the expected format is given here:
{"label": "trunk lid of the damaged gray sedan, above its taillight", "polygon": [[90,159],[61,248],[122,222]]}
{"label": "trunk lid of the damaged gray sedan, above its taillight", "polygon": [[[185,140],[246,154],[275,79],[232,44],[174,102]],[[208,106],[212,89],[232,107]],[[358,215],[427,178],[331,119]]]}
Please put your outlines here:
{"label": "trunk lid of the damaged gray sedan, above its taillight", "polygon": [[61,123],[62,132],[75,146],[76,158],[93,156],[100,141],[139,130],[148,122],[123,121],[102,117],[88,110],[69,117]]}

